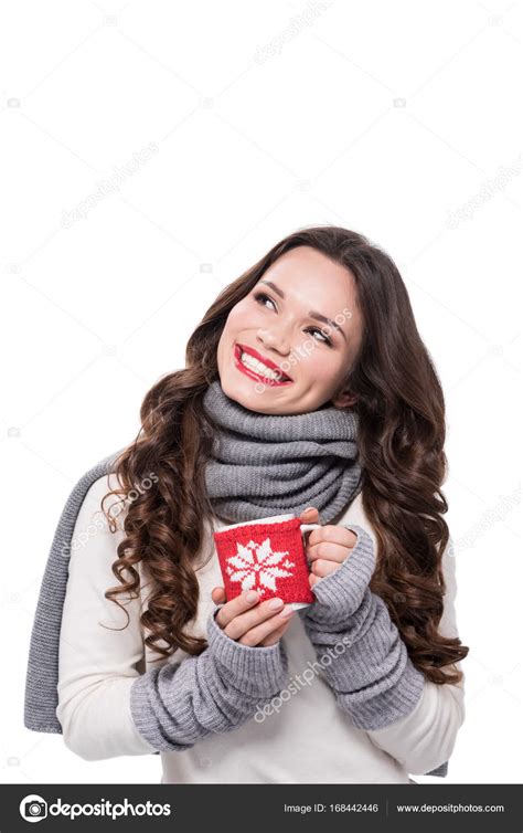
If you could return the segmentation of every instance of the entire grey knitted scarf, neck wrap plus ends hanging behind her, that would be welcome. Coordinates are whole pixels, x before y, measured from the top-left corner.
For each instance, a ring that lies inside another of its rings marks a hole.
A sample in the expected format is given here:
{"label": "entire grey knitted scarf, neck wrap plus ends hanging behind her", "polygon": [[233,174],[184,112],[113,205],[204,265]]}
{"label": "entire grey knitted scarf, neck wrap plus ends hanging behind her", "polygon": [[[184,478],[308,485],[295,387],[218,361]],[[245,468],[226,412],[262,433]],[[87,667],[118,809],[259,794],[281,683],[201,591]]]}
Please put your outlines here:
{"label": "entire grey knitted scarf, neck wrap plus ends hanging behind her", "polygon": [[[220,381],[210,384],[203,404],[216,426],[205,483],[218,517],[234,523],[298,515],[314,506],[325,524],[361,491],[354,412],[325,405],[302,414],[257,413],[226,397]],[[28,661],[24,726],[32,731],[62,734],[56,717],[60,630],[74,527],[88,489],[114,471],[121,451],[79,478],[54,534]],[[430,774],[445,776],[446,765]]]}

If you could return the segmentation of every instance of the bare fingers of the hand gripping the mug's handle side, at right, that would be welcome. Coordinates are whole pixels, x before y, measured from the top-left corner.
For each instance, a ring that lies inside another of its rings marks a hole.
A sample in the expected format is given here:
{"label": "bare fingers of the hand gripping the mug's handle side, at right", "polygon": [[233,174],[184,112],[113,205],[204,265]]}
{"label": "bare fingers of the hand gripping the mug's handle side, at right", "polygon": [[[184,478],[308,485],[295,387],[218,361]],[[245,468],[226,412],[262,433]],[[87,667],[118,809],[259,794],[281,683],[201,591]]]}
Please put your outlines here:
{"label": "bare fingers of the hand gripping the mug's handle side, at right", "polygon": [[[299,518],[302,524],[319,524],[320,513],[313,507],[303,509]],[[357,540],[357,536],[343,526],[325,524],[325,526],[312,529],[306,545],[306,556],[311,562],[309,584],[314,584],[330,576],[350,556]]]}

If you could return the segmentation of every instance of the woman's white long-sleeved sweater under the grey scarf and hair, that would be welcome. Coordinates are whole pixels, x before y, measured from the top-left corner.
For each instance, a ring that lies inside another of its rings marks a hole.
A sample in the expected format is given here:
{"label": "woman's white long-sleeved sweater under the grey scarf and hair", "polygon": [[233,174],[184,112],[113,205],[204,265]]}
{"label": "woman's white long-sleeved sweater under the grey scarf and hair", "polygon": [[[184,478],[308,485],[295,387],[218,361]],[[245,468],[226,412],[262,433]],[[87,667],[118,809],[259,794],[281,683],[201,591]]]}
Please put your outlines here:
{"label": "woman's white long-sleeved sweater under the grey scarf and hair", "polygon": [[[127,600],[127,626],[124,612],[104,598],[109,587],[118,584],[110,568],[125,537],[122,516],[120,528],[113,534],[99,508],[102,497],[115,486],[114,474],[97,479],[77,516],[60,637],[56,716],[66,747],[89,761],[154,751],[132,721],[130,687],[149,668],[186,656],[178,650],[166,660],[145,645],[139,618],[147,608],[147,582],[141,565],[140,598],[117,597],[120,603]],[[215,607],[211,590],[223,584],[212,529],[227,523],[214,517],[205,526],[200,559],[204,563],[211,558],[196,572],[200,602],[191,626],[194,635],[206,636],[205,622]],[[359,524],[375,540],[361,495],[332,523]],[[455,559],[449,549],[444,555],[447,593],[440,631],[456,636]],[[463,681],[460,685],[436,685],[425,679],[414,711],[383,729],[362,731],[337,706],[321,672],[311,682],[302,682],[300,675],[313,667],[317,657],[297,614],[282,640],[289,677],[295,679],[292,696],[262,723],[253,718],[183,752],[161,752],[162,782],[408,783],[409,773],[424,774],[450,758],[465,720]],[[457,667],[462,671],[460,663]]]}

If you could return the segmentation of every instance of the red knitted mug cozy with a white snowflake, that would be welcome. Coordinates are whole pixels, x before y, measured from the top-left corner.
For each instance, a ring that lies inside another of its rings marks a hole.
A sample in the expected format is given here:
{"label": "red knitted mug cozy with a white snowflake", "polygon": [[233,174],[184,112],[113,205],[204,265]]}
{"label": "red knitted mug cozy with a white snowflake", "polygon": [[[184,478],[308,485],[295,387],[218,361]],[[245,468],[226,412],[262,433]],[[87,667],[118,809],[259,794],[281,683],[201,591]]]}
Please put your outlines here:
{"label": "red knitted mug cozy with a white snowflake", "polygon": [[227,601],[247,590],[260,600],[313,602],[299,518],[213,533]]}

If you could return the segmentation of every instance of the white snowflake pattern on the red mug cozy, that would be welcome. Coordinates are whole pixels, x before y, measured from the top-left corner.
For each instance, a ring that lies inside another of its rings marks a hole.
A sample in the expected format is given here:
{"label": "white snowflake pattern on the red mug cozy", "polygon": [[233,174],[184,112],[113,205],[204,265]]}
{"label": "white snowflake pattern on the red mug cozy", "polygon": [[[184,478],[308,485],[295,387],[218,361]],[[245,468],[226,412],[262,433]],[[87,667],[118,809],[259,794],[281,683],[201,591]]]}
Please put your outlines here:
{"label": "white snowflake pattern on the red mug cozy", "polygon": [[260,595],[264,595],[266,589],[276,592],[276,579],[292,576],[290,570],[295,565],[285,558],[289,553],[273,551],[270,538],[266,538],[263,544],[250,540],[247,545],[236,544],[236,555],[226,559],[232,565],[226,570],[231,581],[242,582],[243,591],[256,590]]}

